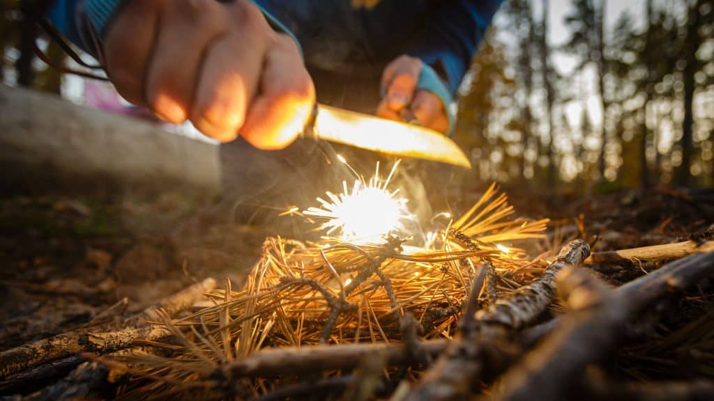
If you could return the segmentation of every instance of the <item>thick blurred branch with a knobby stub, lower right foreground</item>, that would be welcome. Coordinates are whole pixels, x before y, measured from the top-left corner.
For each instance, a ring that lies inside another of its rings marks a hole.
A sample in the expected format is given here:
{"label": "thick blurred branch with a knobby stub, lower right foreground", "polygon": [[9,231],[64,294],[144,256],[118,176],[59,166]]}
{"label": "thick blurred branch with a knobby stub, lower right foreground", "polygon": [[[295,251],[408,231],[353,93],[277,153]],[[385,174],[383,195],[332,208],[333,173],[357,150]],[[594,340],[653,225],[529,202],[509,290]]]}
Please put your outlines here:
{"label": "thick blurred branch with a knobby stub, lower right foreground", "polygon": [[565,386],[543,383],[572,383],[582,377],[585,367],[603,362],[615,350],[626,323],[641,310],[713,276],[714,252],[677,260],[614,291],[585,271],[563,272],[559,290],[576,312],[561,319],[558,330],[505,375],[499,400],[562,399]]}

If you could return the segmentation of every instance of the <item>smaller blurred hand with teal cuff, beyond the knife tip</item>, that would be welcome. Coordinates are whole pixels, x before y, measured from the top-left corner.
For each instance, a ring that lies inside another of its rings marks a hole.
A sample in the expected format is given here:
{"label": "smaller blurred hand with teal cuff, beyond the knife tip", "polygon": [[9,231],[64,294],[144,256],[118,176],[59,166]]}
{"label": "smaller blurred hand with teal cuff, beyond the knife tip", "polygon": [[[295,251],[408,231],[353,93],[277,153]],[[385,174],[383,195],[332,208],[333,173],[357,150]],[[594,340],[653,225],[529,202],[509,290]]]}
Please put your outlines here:
{"label": "smaller blurred hand with teal cuff, beyond the knife tip", "polygon": [[416,89],[419,73],[421,60],[406,55],[384,68],[381,84],[386,94],[377,115],[393,120],[416,118],[423,126],[446,132],[449,121],[443,101],[431,91]]}

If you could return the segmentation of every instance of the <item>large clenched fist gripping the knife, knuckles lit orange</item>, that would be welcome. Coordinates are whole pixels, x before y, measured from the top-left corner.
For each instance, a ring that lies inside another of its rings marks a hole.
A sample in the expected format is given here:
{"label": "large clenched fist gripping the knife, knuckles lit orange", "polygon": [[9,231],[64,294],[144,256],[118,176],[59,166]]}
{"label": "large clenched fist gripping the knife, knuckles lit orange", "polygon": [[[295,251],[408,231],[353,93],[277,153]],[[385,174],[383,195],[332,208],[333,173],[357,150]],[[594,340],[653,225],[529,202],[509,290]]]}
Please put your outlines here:
{"label": "large clenched fist gripping the knife, knuckles lit orange", "polygon": [[104,41],[117,91],[219,141],[283,148],[302,131],[315,89],[295,42],[247,0],[129,0]]}

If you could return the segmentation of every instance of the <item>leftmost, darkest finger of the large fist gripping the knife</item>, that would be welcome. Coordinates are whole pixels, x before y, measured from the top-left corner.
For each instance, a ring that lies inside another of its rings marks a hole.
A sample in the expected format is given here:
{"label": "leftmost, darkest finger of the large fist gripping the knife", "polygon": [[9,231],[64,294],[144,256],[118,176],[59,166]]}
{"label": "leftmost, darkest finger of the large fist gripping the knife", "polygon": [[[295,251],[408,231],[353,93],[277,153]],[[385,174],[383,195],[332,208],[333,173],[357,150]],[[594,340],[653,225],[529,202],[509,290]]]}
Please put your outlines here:
{"label": "leftmost, darkest finger of the large fist gripping the knife", "polygon": [[127,101],[144,106],[144,79],[159,27],[154,1],[128,1],[111,23],[104,40],[106,72]]}

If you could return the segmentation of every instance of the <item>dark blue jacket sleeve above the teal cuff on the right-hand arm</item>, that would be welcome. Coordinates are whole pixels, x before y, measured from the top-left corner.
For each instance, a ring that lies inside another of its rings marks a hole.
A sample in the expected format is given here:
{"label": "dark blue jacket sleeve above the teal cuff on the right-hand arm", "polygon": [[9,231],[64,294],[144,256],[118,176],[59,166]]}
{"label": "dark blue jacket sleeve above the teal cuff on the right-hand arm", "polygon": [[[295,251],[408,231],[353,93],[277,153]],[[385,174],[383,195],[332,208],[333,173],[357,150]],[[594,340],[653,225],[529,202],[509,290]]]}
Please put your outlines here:
{"label": "dark blue jacket sleeve above the teal cuff on the right-hand arm", "polygon": [[442,1],[429,28],[409,54],[421,59],[446,78],[456,94],[473,55],[476,54],[493,14],[503,0]]}

